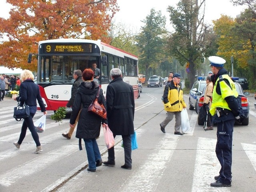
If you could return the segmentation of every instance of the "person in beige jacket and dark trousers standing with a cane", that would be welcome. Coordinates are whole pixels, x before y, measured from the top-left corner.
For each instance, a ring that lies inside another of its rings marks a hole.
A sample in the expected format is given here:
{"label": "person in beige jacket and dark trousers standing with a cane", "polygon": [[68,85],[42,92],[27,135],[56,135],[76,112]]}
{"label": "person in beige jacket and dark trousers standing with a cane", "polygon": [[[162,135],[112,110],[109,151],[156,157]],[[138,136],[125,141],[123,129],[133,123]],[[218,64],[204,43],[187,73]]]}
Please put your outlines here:
{"label": "person in beige jacket and dark trousers standing with a cane", "polygon": [[[212,80],[211,80],[211,76],[207,76],[206,77],[206,89],[204,92],[204,107],[206,108],[206,106],[208,106],[209,108],[211,108],[212,106],[212,88],[213,88],[213,84],[212,84]],[[208,109],[209,110],[209,109]],[[213,124],[212,124],[212,115],[210,113],[208,113],[207,115],[207,123],[206,123],[206,130],[213,130]]]}

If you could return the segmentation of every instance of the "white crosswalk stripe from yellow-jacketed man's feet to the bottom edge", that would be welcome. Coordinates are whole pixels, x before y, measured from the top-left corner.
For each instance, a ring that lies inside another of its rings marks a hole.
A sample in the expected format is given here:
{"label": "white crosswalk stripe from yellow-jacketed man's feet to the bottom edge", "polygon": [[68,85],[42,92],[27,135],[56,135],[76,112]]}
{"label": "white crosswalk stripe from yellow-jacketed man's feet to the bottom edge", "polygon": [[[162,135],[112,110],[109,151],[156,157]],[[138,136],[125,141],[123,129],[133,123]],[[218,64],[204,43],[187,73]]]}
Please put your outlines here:
{"label": "white crosswalk stripe from yellow-jacketed man's feet to the bottom edge", "polygon": [[[143,191],[155,191],[162,177],[166,164],[169,164],[174,150],[176,149],[179,137],[171,134],[165,134],[160,140],[156,150],[148,156],[148,159],[140,166],[138,172],[134,172],[128,182],[124,183],[120,188],[123,192],[130,192],[131,189]],[[172,146],[171,150],[166,150],[167,146]],[[156,166],[157,162],[157,166]]]}

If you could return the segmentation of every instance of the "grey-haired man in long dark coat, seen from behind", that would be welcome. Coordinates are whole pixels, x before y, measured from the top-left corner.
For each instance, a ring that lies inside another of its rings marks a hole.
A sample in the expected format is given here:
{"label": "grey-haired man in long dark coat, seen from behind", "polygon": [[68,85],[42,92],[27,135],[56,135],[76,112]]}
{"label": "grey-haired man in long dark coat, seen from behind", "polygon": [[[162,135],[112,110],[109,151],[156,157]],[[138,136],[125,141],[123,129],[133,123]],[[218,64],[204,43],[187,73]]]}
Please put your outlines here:
{"label": "grey-haired man in long dark coat, seen from behind", "polygon": [[[106,92],[108,126],[116,135],[122,135],[124,145],[124,165],[121,168],[132,169],[132,148],[130,135],[134,134],[134,93],[133,88],[122,80],[122,72],[118,68],[110,71],[112,81]],[[115,166],[114,147],[108,149],[106,166]]]}

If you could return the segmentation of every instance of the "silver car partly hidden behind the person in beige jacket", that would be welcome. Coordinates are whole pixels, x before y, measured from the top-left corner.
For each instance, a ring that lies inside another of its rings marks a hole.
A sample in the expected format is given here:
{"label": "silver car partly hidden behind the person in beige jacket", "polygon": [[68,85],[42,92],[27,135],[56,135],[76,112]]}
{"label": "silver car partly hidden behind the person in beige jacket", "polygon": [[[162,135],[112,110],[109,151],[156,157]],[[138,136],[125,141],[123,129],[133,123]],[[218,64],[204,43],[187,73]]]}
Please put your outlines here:
{"label": "silver car partly hidden behind the person in beige jacket", "polygon": [[206,85],[206,77],[198,77],[198,80],[194,82],[190,92],[189,92],[189,109],[194,110],[194,108],[197,111],[196,103],[198,101],[198,97],[202,94],[202,90],[204,89],[204,86]]}

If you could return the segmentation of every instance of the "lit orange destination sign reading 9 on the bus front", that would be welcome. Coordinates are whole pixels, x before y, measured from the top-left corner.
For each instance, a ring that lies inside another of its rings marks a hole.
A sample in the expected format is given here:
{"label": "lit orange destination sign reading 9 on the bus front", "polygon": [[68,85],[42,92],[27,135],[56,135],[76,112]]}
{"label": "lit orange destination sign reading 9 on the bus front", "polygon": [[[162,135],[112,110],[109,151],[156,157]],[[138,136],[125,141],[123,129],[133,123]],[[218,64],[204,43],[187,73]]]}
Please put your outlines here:
{"label": "lit orange destination sign reading 9 on the bus front", "polygon": [[45,53],[91,53],[91,44],[44,44]]}

